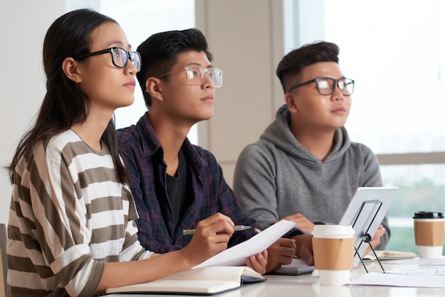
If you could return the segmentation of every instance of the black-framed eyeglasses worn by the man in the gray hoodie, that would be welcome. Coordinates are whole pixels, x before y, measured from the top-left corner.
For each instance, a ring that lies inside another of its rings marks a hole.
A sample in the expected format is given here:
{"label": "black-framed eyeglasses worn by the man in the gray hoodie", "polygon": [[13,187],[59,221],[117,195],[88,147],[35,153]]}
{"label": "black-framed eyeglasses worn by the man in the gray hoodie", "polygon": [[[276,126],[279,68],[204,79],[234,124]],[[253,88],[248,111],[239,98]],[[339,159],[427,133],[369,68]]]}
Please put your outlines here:
{"label": "black-framed eyeglasses worn by the man in the gray hoodie", "polygon": [[293,85],[289,88],[288,93],[292,92],[297,87],[309,85],[312,82],[316,83],[317,91],[320,93],[320,95],[333,95],[333,92],[336,90],[336,86],[340,90],[341,94],[345,96],[353,95],[354,92],[354,80],[351,80],[350,78],[339,78],[336,80],[332,77],[316,77],[313,80],[302,82],[299,85]]}

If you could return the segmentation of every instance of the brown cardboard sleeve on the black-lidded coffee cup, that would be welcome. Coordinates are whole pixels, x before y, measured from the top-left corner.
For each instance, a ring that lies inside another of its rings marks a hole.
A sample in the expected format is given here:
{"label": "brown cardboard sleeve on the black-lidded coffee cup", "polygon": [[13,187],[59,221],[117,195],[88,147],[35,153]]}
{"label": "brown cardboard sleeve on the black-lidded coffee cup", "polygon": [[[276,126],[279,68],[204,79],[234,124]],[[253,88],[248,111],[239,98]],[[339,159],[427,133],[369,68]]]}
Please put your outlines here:
{"label": "brown cardboard sleeve on the black-lidded coffee cup", "polygon": [[414,238],[416,245],[424,247],[439,247],[444,244],[444,221],[418,222],[414,221]]}

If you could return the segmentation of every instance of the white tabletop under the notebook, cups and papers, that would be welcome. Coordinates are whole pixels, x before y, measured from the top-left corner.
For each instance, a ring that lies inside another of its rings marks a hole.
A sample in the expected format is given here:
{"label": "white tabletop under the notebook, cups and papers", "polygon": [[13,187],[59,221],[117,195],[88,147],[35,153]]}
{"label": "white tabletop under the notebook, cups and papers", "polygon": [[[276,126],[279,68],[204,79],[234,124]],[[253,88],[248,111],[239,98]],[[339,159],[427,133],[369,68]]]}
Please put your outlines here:
{"label": "white tabletop under the notebook, cups and papers", "polygon": [[[390,270],[394,265],[390,261],[382,261],[385,270]],[[382,272],[377,262],[366,263],[368,271]],[[363,266],[359,264],[351,271],[350,279],[358,279],[366,274]],[[256,284],[245,284],[235,291],[218,294],[216,297],[417,297],[417,296],[445,296],[445,288],[416,288],[395,286],[321,286],[318,276],[304,274],[301,276],[272,276],[267,275],[267,281]],[[445,276],[444,276],[445,281]],[[140,297],[144,295],[108,295]],[[146,296],[176,296],[178,295],[146,295]]]}

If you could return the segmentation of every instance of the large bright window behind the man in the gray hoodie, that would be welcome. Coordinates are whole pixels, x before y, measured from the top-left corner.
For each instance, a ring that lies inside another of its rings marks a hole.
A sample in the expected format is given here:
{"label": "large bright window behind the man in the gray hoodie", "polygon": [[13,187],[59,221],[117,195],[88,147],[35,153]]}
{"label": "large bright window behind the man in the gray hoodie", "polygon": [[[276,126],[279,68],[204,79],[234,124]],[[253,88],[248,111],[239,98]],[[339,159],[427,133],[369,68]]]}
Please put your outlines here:
{"label": "large bright window behind the man in the gray hoodie", "polygon": [[[387,249],[412,250],[412,215],[445,212],[445,2],[285,1],[286,50],[326,40],[355,80],[350,138],[379,157],[390,208]],[[291,12],[289,12],[291,11]]]}

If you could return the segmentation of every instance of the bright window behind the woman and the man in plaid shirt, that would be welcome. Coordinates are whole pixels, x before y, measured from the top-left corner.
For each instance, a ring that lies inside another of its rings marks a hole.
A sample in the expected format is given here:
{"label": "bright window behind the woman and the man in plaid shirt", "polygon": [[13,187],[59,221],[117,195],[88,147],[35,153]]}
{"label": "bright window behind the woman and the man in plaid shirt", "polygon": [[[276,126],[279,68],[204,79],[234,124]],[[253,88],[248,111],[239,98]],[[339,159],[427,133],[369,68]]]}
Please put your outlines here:
{"label": "bright window behind the woman and the man in plaid shirt", "polygon": [[[67,10],[92,8],[114,18],[127,33],[134,49],[154,33],[183,30],[195,26],[194,0],[65,0]],[[144,98],[139,86],[134,92],[134,104],[115,112],[117,128],[136,121],[146,112]],[[198,128],[193,126],[188,138],[198,143]]]}

